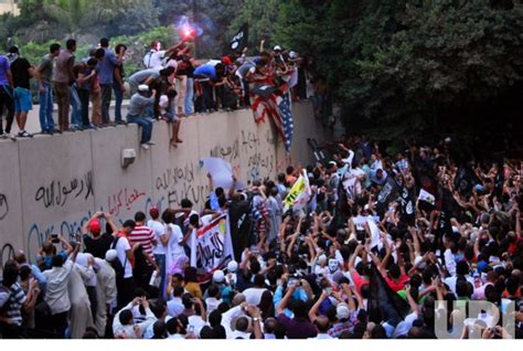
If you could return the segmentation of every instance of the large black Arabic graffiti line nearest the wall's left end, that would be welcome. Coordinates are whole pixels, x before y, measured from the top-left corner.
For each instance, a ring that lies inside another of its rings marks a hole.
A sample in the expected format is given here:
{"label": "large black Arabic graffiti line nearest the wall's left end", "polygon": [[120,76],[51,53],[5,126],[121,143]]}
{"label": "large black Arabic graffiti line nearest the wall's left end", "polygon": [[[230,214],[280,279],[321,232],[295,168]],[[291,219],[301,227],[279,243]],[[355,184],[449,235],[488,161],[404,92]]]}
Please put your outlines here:
{"label": "large black Arabic graffiti line nearest the wall's left end", "polygon": [[70,182],[52,181],[47,187],[40,187],[36,190],[34,200],[41,201],[45,209],[52,206],[64,206],[67,200],[83,195],[84,200],[94,195],[93,171],[88,171],[83,179],[72,179]]}

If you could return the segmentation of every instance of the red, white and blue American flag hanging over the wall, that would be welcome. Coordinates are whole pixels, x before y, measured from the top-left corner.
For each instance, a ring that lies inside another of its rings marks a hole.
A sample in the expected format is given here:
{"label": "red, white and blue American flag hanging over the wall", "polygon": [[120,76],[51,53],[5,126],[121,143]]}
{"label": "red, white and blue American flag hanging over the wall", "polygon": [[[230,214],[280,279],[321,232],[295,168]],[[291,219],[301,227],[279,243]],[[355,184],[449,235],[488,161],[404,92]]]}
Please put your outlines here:
{"label": "red, white and blue American flag hanging over the wall", "polygon": [[[268,92],[270,94],[265,94]],[[265,118],[268,117],[284,140],[286,151],[290,152],[293,121],[288,84],[284,84],[277,89],[264,85],[257,89],[255,88],[250,95],[250,107],[253,108],[256,123],[264,123]]]}

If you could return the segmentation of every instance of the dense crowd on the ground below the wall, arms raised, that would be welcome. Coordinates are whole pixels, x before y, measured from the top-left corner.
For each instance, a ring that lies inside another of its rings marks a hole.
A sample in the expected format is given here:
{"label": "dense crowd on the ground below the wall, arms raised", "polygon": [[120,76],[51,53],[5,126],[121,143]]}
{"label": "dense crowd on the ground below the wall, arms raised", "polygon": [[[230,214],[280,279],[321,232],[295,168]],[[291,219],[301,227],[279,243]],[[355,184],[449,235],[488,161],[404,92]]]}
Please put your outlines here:
{"label": "dense crowd on the ground below the wall, arms raised", "polygon": [[[387,156],[353,137],[246,189],[210,176],[201,209],[184,199],[121,227],[97,212],[82,236],[4,263],[1,333],[430,339],[444,320],[457,338],[521,338],[523,163],[457,151],[446,139]],[[286,209],[305,178],[306,203]],[[202,280],[188,241],[224,213],[234,255]],[[474,315],[476,301],[490,305]]]}

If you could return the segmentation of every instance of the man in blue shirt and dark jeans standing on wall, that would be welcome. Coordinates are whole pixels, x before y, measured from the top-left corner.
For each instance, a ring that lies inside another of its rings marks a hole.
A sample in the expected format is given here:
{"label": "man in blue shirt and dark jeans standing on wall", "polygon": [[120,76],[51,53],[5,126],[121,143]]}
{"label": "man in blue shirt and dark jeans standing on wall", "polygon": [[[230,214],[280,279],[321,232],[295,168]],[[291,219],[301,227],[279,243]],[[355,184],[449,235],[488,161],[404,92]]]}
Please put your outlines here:
{"label": "man in blue shirt and dark jeans standing on wall", "polygon": [[115,79],[115,67],[121,65],[125,51],[120,50],[118,56],[116,56],[115,53],[109,50],[109,40],[107,38],[100,40],[100,46],[105,51],[104,57],[98,63],[98,78],[102,87],[102,124],[108,125],[110,121],[109,107],[113,82]]}

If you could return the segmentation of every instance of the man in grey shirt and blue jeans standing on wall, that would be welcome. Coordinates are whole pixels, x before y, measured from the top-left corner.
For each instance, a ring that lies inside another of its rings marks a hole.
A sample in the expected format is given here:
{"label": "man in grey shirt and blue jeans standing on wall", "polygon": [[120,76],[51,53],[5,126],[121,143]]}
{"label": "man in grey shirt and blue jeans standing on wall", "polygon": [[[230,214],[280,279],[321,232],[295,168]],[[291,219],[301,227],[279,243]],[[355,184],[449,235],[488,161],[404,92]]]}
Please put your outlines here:
{"label": "man in grey shirt and blue jeans standing on wall", "polygon": [[53,62],[60,54],[60,44],[53,43],[49,49],[49,54],[42,57],[36,68],[39,73],[39,93],[40,93],[40,127],[42,134],[53,134],[53,88],[51,78],[53,77]]}

